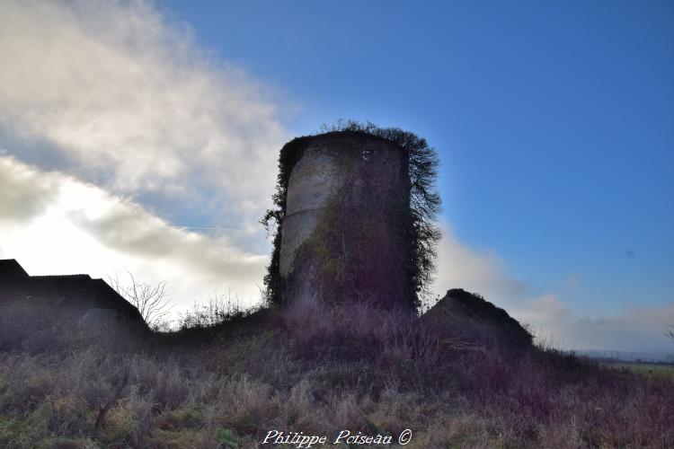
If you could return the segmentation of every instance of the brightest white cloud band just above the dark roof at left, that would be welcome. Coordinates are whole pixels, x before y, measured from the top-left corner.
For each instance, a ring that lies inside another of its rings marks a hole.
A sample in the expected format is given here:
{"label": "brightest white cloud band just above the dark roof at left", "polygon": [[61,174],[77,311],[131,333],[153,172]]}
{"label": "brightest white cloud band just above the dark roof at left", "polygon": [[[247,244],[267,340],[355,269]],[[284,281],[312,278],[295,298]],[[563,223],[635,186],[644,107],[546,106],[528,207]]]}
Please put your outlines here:
{"label": "brightest white cloud band just above the dark roof at left", "polygon": [[[31,274],[88,273],[169,281],[176,309],[215,292],[259,300],[266,255],[230,239],[175,229],[127,198],[58,172],[0,157],[0,258]],[[4,194],[6,191],[12,195]],[[28,205],[16,207],[17,199]]]}

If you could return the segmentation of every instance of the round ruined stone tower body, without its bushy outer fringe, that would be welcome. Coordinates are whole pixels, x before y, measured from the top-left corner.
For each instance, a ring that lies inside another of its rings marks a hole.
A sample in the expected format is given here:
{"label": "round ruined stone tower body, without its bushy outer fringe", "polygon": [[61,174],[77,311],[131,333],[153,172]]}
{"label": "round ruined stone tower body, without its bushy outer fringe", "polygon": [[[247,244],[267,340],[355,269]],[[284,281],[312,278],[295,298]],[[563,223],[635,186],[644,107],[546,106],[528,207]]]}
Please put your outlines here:
{"label": "round ruined stone tower body, without its bushy outer fringe", "polygon": [[281,304],[369,302],[412,309],[410,154],[358,131],[298,137],[279,158],[270,273]]}

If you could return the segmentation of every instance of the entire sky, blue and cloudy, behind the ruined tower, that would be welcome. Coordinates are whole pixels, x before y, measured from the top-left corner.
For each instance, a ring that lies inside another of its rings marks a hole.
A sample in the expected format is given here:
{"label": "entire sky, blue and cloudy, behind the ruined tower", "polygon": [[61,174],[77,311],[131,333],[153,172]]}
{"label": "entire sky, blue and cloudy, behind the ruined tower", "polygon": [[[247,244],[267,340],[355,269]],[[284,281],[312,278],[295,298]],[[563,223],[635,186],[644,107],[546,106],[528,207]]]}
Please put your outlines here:
{"label": "entire sky, blue and cloudy, behind the ruined tower", "polygon": [[0,258],[254,304],[280,146],[371,120],[439,152],[436,293],[669,350],[672,30],[664,1],[5,0]]}

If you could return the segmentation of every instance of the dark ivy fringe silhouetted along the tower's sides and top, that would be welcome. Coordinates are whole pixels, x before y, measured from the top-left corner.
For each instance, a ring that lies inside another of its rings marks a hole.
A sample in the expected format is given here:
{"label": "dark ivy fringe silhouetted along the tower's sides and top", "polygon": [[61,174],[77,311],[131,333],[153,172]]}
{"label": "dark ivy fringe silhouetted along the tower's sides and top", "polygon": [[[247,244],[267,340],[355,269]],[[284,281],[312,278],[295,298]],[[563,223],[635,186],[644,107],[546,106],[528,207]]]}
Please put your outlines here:
{"label": "dark ivy fringe silhouetted along the tower's sides and top", "polygon": [[[412,285],[417,297],[412,303],[418,307],[420,296],[429,295],[428,286],[432,280],[437,255],[437,243],[441,237],[437,225],[437,215],[441,200],[436,189],[439,158],[435,149],[425,139],[400,128],[380,128],[377,125],[355,120],[340,119],[333,125],[321,127],[321,133],[363,133],[379,136],[399,145],[407,155],[410,177],[410,214],[412,217],[412,260],[410,272]],[[267,232],[274,235],[270,265],[264,277],[266,299],[270,304],[279,304],[279,257],[281,227],[288,198],[288,181],[295,163],[304,154],[308,145],[307,136],[297,137],[284,145],[279,155],[279,176],[276,192],[273,194],[274,208],[262,217],[261,223]]]}

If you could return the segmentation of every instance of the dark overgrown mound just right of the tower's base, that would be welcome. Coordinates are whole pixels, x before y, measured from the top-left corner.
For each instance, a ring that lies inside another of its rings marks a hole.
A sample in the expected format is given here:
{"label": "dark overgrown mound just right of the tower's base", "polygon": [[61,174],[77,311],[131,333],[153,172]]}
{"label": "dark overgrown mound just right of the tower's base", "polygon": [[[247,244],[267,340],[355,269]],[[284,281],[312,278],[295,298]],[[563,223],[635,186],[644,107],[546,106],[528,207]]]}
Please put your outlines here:
{"label": "dark overgrown mound just right of the tower's base", "polygon": [[421,316],[448,344],[481,348],[529,348],[532,336],[506,311],[481,295],[454,288]]}

